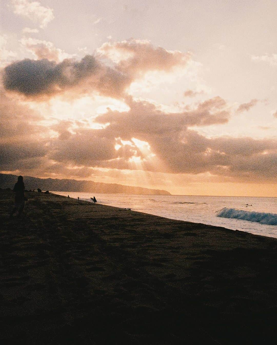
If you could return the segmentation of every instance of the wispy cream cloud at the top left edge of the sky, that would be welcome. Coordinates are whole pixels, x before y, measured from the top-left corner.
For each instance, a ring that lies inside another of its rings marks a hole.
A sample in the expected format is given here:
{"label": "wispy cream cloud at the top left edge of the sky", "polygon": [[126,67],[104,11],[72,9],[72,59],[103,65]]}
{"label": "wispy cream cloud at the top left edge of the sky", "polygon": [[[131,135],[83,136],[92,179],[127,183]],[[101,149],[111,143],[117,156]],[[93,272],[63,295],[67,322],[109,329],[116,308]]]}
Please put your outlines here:
{"label": "wispy cream cloud at the top left edge of the sky", "polygon": [[13,11],[22,17],[29,18],[33,22],[38,22],[40,28],[45,28],[53,20],[53,9],[41,6],[38,1],[12,0]]}

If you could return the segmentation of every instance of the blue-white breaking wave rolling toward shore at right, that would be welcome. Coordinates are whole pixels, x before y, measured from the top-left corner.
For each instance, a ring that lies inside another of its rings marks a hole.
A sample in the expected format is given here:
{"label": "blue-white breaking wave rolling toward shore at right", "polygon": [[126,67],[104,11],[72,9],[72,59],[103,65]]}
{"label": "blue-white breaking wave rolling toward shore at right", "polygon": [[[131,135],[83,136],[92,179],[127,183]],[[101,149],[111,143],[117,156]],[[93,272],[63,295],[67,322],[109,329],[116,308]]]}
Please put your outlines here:
{"label": "blue-white breaking wave rolling toward shore at right", "polygon": [[277,225],[277,214],[275,213],[249,212],[224,207],[219,211],[217,216],[222,218],[237,218],[241,220],[254,221],[260,224]]}

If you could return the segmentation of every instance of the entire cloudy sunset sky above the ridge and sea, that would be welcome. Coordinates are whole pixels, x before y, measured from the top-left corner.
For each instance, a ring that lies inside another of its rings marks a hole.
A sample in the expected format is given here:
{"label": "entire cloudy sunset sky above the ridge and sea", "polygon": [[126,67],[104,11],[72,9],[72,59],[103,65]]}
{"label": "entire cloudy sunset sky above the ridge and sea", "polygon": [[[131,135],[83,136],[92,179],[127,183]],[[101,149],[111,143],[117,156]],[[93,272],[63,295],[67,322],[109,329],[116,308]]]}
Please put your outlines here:
{"label": "entire cloudy sunset sky above the ridge and sea", "polygon": [[0,172],[277,196],[275,0],[0,0]]}

